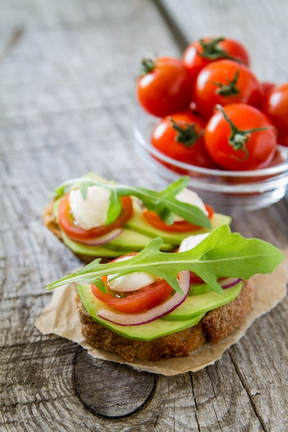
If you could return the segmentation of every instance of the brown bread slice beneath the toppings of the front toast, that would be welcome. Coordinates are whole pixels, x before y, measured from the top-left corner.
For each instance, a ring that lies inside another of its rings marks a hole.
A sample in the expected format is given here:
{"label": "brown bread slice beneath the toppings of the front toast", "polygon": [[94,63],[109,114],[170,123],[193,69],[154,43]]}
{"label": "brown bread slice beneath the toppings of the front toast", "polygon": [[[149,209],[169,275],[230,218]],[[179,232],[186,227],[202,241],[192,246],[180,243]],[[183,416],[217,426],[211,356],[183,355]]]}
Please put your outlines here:
{"label": "brown bread slice beneath the toppings of the front toast", "polygon": [[135,358],[155,362],[168,357],[186,357],[204,342],[220,342],[240,325],[253,304],[253,297],[253,282],[244,281],[233,302],[210,311],[196,326],[147,342],[126,339],[93,321],[78,294],[75,303],[86,342],[117,354],[126,362],[133,362]]}

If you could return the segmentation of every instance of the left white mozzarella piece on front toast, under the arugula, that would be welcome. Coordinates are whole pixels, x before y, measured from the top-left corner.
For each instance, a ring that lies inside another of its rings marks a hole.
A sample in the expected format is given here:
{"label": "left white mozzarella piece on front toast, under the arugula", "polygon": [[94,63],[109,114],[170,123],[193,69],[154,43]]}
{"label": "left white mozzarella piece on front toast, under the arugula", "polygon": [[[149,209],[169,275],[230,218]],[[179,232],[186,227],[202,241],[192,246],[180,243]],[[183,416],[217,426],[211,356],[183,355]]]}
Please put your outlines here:
{"label": "left white mozzarella piece on front toast, under the arugula", "polygon": [[[121,257],[117,259],[117,261],[126,261],[126,259],[130,259],[131,257],[132,256]],[[135,271],[134,273],[118,276],[115,279],[110,280],[112,277],[115,277],[115,275],[108,275],[108,287],[119,293],[138,291],[140,288],[153,284],[153,282],[156,282],[157,279],[159,279],[157,276],[144,271]]]}

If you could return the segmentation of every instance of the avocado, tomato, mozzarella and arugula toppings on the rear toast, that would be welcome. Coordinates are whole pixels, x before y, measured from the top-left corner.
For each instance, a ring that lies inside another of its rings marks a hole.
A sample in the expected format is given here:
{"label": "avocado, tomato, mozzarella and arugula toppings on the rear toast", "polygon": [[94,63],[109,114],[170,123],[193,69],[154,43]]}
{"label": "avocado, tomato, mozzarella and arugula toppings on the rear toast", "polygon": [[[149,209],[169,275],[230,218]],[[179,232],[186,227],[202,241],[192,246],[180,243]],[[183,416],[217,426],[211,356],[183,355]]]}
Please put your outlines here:
{"label": "avocado, tomato, mozzarella and arugula toppings on the rear toast", "polygon": [[173,251],[184,237],[231,222],[187,189],[188,182],[181,177],[155,191],[92,174],[66,181],[54,192],[61,239],[78,255],[112,259],[141,251],[155,237],[162,237],[162,251]]}

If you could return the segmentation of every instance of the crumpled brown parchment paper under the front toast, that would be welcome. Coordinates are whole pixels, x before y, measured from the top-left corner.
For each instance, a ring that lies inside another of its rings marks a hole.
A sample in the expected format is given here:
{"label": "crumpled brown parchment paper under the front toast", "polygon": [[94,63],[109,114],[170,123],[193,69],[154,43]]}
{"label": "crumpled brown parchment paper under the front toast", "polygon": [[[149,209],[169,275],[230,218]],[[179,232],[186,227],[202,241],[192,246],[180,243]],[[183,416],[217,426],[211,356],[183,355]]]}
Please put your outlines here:
{"label": "crumpled brown parchment paper under the front toast", "polygon": [[86,348],[90,355],[100,360],[128,364],[140,371],[160,373],[162,375],[177,375],[190,371],[196,372],[220,360],[224,351],[240,340],[256,318],[270,311],[285,297],[287,294],[288,279],[288,250],[282,252],[285,255],[285,261],[273,273],[252,277],[255,284],[255,299],[253,307],[244,317],[242,324],[218,344],[206,343],[193,351],[189,357],[171,358],[158,362],[145,362],[135,359],[133,363],[127,363],[117,355],[108,354],[97,348],[93,348],[81,335],[81,325],[74,302],[77,292],[75,284],[68,284],[53,291],[52,300],[37,318],[35,326],[44,335],[54,333],[76,342],[83,346],[83,348]]}

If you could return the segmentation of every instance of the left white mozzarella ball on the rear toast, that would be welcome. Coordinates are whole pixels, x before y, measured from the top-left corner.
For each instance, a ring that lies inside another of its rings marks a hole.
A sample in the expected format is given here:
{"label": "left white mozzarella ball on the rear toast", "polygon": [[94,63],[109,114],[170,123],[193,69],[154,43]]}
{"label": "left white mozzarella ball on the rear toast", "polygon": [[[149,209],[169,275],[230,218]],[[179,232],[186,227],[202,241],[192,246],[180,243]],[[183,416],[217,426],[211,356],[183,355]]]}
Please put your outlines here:
{"label": "left white mozzarella ball on the rear toast", "polygon": [[87,197],[83,199],[79,189],[69,194],[70,210],[77,224],[89,230],[106,222],[110,191],[101,186],[88,186]]}

